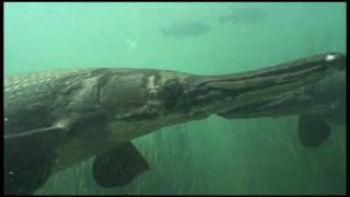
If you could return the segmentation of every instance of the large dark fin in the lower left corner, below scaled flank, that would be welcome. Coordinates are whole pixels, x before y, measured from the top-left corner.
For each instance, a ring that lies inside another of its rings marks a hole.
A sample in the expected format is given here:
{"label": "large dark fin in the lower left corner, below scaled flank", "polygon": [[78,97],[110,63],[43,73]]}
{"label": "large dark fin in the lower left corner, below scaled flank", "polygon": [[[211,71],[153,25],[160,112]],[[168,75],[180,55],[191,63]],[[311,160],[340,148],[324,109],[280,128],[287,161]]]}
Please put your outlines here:
{"label": "large dark fin in the lower left corner, below scaled flank", "polygon": [[33,194],[48,179],[61,129],[48,127],[4,136],[4,193]]}

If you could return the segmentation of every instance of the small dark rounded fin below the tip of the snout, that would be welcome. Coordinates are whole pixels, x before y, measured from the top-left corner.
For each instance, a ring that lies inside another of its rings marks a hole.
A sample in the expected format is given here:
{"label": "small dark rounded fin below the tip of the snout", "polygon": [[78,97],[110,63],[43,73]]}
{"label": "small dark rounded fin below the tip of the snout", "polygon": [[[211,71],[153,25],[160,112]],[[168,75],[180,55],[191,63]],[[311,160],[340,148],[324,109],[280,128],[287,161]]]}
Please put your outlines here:
{"label": "small dark rounded fin below the tip of the snout", "polygon": [[319,147],[330,135],[330,127],[320,116],[302,115],[299,118],[300,143],[307,148]]}

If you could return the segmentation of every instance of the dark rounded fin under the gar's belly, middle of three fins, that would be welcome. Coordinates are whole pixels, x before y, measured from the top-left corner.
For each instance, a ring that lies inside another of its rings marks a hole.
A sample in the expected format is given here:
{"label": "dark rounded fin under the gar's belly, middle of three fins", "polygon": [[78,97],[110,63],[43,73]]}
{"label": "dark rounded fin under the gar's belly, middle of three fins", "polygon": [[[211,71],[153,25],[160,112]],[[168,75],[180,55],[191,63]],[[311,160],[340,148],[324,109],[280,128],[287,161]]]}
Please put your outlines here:
{"label": "dark rounded fin under the gar's belly, middle of three fins", "polygon": [[103,187],[116,187],[130,183],[149,169],[145,159],[128,142],[97,155],[93,163],[93,176]]}

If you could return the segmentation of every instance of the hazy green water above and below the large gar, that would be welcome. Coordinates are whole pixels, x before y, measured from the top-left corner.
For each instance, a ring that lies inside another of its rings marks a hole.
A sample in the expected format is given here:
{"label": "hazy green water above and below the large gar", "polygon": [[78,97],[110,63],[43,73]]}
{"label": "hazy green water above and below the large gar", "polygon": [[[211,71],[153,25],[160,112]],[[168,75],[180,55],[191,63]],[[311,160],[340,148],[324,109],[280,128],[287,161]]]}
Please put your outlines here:
{"label": "hazy green water above and below the large gar", "polygon": [[[317,53],[346,53],[343,2],[4,3],[4,76],[113,67],[198,74],[254,70]],[[317,149],[298,117],[207,119],[133,140],[151,170],[106,189],[92,160],[36,194],[345,194],[346,128]]]}

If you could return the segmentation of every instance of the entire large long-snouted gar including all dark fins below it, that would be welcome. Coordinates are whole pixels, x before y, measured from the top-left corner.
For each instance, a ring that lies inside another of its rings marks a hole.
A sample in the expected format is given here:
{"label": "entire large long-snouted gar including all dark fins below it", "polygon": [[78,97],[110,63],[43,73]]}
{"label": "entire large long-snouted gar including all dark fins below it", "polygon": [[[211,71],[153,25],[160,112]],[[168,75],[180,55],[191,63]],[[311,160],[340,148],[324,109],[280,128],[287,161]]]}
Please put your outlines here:
{"label": "entire large long-snouted gar including all dark fins below it", "polygon": [[93,157],[98,185],[128,184],[149,170],[132,139],[211,114],[299,115],[301,143],[318,147],[330,132],[327,118],[346,112],[345,71],[346,56],[327,53],[225,76],[103,68],[7,77],[5,194],[33,194]]}

